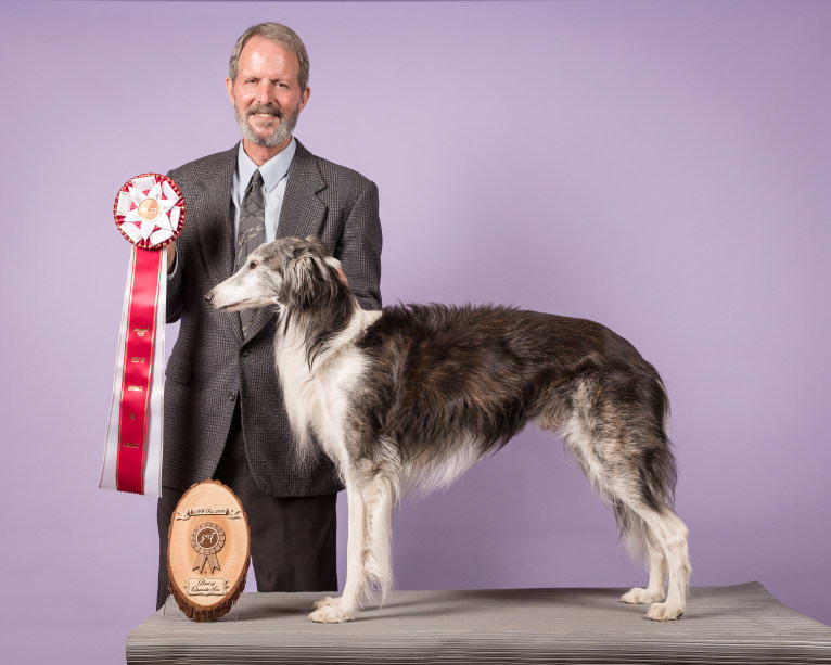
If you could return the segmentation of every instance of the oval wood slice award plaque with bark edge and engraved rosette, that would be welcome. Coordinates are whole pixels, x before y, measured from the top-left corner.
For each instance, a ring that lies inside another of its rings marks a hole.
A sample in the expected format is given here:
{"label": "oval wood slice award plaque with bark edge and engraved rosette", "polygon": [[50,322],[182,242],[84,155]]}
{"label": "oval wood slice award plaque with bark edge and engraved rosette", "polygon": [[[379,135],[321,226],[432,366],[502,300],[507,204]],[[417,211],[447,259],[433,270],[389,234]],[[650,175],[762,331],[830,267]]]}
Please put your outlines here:
{"label": "oval wood slice award plaque with bark edge and engraved rosette", "polygon": [[245,510],[218,481],[192,485],[167,533],[167,576],[182,612],[196,622],[226,614],[245,588],[251,533]]}

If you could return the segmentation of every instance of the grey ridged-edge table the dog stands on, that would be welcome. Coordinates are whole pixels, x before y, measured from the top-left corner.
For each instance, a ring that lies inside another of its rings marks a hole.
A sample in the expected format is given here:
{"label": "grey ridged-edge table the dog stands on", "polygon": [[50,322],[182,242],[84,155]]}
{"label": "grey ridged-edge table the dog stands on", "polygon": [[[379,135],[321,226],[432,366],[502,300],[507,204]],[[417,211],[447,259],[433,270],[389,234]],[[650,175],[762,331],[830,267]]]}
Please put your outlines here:
{"label": "grey ridged-edge table the dog stands on", "polygon": [[172,599],[127,637],[127,663],[831,663],[831,628],[758,583],[693,588],[677,622],[627,589],[394,591],[346,624],[306,618],[324,593],[243,593],[215,623]]}

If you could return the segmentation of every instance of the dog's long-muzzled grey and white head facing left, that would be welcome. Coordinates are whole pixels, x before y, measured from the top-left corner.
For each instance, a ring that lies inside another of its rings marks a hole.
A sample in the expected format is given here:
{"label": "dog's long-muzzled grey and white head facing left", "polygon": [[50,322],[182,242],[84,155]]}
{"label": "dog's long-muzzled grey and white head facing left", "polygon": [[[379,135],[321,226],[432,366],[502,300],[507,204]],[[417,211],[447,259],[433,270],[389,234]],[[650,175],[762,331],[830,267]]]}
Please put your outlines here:
{"label": "dog's long-muzzled grey and white head facing left", "polygon": [[340,270],[341,261],[314,235],[282,238],[254,250],[245,265],[214,286],[205,299],[228,311],[266,305],[312,308],[348,293]]}

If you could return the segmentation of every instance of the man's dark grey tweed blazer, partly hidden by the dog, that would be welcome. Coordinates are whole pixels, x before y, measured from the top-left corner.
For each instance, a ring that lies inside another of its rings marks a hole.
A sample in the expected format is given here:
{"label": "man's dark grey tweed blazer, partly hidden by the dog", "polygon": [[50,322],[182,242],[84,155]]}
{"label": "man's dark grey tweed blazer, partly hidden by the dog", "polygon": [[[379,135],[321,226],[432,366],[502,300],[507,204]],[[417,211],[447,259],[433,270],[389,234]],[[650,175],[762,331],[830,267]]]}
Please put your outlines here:
{"label": "man's dark grey tweed blazer, partly hidden by the dog", "polygon": [[[212,477],[240,400],[245,452],[263,491],[318,496],[343,488],[322,453],[301,468],[274,367],[276,308],[256,314],[243,336],[238,312],[210,307],[205,294],[233,272],[231,189],[238,146],[175,168],[184,195],[184,230],[168,283],[167,322],[181,320],[165,379],[164,486],[186,489]],[[378,188],[321,159],[299,141],[289,170],[277,236],[318,235],[343,263],[365,309],[381,308]]]}

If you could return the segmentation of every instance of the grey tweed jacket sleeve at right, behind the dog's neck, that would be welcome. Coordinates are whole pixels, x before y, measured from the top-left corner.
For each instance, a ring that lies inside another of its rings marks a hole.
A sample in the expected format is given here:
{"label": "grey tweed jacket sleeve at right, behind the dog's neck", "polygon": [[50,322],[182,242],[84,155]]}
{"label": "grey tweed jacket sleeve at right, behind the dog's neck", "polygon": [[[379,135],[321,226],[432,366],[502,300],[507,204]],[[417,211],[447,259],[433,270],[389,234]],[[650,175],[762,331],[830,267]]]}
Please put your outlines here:
{"label": "grey tweed jacket sleeve at right, behind the dog's neck", "polygon": [[336,257],[363,309],[381,309],[381,220],[378,187],[366,180],[343,226]]}

